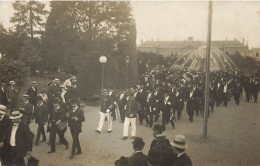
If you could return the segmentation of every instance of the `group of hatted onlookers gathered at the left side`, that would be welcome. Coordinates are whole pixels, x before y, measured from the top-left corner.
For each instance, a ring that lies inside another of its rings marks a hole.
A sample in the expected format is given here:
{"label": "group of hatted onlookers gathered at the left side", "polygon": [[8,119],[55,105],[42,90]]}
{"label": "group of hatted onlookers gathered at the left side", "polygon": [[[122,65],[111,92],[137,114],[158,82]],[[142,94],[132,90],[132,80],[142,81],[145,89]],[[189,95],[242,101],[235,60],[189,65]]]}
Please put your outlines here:
{"label": "group of hatted onlookers gathered at the left side", "polygon": [[[0,93],[0,158],[2,166],[25,166],[24,157],[30,159],[33,144],[46,142],[46,132],[49,134],[50,153],[55,152],[56,135],[59,143],[69,149],[69,143],[64,137],[67,127],[72,136],[70,158],[82,153],[79,134],[82,131],[84,113],[80,108],[75,76],[69,76],[63,85],[59,79],[48,84],[48,89],[40,93],[37,82],[33,81],[27,93],[19,102],[19,90],[15,81],[1,84]],[[9,111],[7,111],[9,110]],[[30,124],[38,125],[37,132],[32,133]],[[47,131],[45,125],[47,124]],[[34,136],[35,142],[33,143]],[[40,140],[40,138],[42,138]]]}

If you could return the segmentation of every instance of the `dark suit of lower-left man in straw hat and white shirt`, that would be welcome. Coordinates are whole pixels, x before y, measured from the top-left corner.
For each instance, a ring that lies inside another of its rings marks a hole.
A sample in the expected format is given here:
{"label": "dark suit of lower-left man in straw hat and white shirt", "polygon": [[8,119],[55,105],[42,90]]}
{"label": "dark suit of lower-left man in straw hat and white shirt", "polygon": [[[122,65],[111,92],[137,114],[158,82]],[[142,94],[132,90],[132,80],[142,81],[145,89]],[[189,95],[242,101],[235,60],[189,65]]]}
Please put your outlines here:
{"label": "dark suit of lower-left man in straw hat and white shirt", "polygon": [[[7,137],[5,142],[10,145],[11,133],[13,125],[8,129]],[[23,124],[22,122],[18,125],[16,135],[15,135],[15,145],[11,146],[10,157],[12,163],[17,166],[25,166],[24,157],[27,155],[28,151],[32,151],[32,141],[33,134],[29,129],[29,126]]]}

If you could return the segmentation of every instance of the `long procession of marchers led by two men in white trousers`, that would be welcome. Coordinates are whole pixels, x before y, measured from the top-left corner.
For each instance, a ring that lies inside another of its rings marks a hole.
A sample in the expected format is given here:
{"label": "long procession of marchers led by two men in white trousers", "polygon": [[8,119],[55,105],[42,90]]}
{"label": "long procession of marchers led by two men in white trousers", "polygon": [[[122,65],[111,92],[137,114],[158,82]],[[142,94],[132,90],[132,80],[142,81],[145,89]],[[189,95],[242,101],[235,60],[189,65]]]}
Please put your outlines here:
{"label": "long procession of marchers led by two men in white trousers", "polygon": [[[214,111],[215,106],[223,104],[227,107],[232,96],[239,105],[243,89],[246,92],[247,102],[252,97],[257,102],[259,75],[243,75],[238,71],[215,71],[211,72],[210,80],[208,116]],[[130,125],[131,138],[135,137],[137,117],[140,125],[145,121],[148,127],[152,127],[161,117],[163,130],[168,123],[174,129],[175,115],[180,120],[184,108],[189,121],[193,122],[194,114],[204,115],[204,85],[203,72],[157,65],[142,75],[139,84],[132,88],[123,91],[107,90],[107,95],[101,104],[99,126],[95,131],[101,133],[107,117],[108,133],[111,133],[111,118],[115,120],[116,115],[119,115],[121,122],[124,122],[123,140],[128,138]]]}

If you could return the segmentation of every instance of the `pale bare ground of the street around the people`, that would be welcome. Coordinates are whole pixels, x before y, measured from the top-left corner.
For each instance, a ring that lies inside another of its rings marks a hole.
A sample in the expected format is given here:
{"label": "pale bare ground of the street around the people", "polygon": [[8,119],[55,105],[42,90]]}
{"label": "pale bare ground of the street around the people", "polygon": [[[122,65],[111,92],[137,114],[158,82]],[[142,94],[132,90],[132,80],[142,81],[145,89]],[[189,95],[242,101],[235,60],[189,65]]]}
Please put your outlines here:
{"label": "pale bare ground of the street around the people", "polygon": [[[131,140],[121,140],[123,124],[113,122],[113,132],[106,133],[105,123],[101,134],[94,130],[98,124],[98,107],[84,107],[86,121],[83,123],[83,133],[80,141],[83,154],[69,159],[70,150],[57,145],[56,153],[47,154],[50,147],[41,143],[33,148],[33,156],[40,159],[40,166],[113,166],[120,156],[130,156]],[[176,123],[176,129],[168,125],[165,134],[172,140],[175,134],[186,136],[190,155],[194,166],[257,166],[260,164],[260,105],[246,103],[244,99],[240,106],[232,101],[225,108],[220,106],[208,122],[208,138],[202,139],[203,118],[195,117],[194,122],[188,121],[186,111]],[[35,124],[31,125],[35,132]],[[152,130],[137,125],[137,136],[146,142],[144,152],[147,154],[152,141]],[[65,137],[72,144],[70,132]]]}

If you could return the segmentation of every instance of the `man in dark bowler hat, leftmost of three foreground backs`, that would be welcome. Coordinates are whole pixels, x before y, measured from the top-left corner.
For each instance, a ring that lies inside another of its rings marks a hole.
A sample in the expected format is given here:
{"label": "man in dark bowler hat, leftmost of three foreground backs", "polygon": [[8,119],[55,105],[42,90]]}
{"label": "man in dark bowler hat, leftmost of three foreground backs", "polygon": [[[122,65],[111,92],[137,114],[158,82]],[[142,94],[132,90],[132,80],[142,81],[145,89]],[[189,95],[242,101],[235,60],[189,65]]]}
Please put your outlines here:
{"label": "man in dark bowler hat, leftmost of three foreground backs", "polygon": [[148,157],[143,154],[144,141],[140,137],[135,137],[132,142],[134,154],[128,158],[128,166],[148,166]]}

